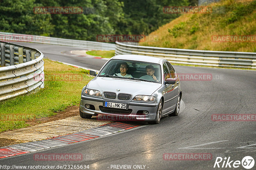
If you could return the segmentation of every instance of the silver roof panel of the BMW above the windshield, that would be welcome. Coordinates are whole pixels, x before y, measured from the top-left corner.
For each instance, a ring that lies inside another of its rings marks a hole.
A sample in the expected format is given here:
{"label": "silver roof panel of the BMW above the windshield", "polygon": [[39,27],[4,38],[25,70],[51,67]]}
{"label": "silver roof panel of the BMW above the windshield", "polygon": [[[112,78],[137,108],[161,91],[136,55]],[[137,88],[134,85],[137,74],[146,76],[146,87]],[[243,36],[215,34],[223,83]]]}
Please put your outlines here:
{"label": "silver roof panel of the BMW above the windshield", "polygon": [[135,54],[119,54],[112,57],[112,59],[134,60],[134,61],[143,61],[143,62],[151,62],[151,63],[159,63],[159,61],[165,60],[157,57],[152,57],[147,55],[135,55]]}

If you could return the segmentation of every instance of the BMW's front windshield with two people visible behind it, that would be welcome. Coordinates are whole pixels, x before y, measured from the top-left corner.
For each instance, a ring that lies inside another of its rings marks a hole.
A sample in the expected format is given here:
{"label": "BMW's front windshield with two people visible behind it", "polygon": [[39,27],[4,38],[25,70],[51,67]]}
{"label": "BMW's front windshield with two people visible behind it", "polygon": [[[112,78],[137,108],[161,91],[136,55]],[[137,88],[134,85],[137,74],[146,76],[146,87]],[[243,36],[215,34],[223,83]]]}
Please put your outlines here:
{"label": "BMW's front windshield with two people visible behind it", "polygon": [[98,76],[161,83],[161,67],[159,64],[149,62],[110,60]]}

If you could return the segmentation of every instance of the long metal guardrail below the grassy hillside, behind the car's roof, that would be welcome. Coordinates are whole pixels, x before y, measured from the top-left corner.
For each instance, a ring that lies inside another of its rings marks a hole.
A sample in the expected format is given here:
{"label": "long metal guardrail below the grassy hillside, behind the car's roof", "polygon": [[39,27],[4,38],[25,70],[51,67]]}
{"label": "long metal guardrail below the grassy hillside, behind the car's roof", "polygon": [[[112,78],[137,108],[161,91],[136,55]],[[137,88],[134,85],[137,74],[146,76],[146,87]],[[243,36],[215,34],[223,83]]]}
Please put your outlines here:
{"label": "long metal guardrail below the grassy hillside, behind the car's roof", "polygon": [[151,46],[135,46],[116,42],[115,54],[149,55],[171,63],[215,67],[256,68],[256,53],[187,50]]}

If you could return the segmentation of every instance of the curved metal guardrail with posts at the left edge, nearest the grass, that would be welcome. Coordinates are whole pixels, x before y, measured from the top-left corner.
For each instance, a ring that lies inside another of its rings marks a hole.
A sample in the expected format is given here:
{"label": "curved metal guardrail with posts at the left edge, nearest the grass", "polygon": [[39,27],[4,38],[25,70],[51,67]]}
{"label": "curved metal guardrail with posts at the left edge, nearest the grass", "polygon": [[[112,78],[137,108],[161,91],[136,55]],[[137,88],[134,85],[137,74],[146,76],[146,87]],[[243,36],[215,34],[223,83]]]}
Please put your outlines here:
{"label": "curved metal guardrail with posts at the left edge, nearest the grass", "polygon": [[9,42],[0,44],[0,101],[44,88],[44,54]]}

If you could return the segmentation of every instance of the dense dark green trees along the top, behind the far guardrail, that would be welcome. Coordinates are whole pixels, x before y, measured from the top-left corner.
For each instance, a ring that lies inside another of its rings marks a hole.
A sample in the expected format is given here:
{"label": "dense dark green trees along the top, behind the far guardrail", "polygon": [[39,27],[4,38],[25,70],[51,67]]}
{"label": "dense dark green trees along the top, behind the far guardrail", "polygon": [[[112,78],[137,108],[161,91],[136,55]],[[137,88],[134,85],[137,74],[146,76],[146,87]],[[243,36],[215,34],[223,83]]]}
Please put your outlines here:
{"label": "dense dark green trees along the top, behind the far guardrail", "polygon": [[[99,34],[147,35],[179,16],[164,14],[164,6],[188,4],[188,0],[0,0],[0,31],[92,41]],[[87,14],[35,14],[33,8],[38,6],[94,10]]]}

